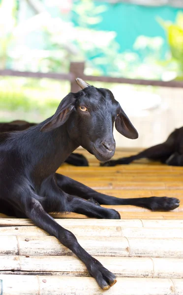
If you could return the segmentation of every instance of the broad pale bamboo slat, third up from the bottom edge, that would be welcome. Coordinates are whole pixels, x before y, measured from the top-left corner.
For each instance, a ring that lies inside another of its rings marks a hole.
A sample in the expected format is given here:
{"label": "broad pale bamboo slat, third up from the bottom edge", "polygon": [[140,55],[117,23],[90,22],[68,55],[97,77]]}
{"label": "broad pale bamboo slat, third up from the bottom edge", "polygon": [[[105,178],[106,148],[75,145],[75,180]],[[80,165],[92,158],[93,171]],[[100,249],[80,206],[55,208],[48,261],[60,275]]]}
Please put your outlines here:
{"label": "broad pale bamboo slat, third up from the bottom edge", "polygon": [[[78,237],[78,242],[93,256],[183,258],[182,238],[96,238],[87,236]],[[1,236],[0,255],[17,254],[73,255],[53,236]]]}

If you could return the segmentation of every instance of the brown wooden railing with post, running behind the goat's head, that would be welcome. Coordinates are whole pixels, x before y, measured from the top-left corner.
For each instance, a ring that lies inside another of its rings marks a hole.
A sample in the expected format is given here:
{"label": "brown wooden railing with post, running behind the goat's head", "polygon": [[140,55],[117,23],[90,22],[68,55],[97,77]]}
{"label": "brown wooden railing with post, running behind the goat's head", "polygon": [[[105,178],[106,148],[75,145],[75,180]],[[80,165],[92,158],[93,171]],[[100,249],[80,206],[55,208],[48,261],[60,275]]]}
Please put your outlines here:
{"label": "brown wooden railing with post, running behind the goat's head", "polygon": [[84,74],[84,62],[71,62],[70,71],[68,74],[64,73],[41,73],[41,72],[22,72],[14,70],[0,70],[0,76],[15,76],[15,77],[28,77],[28,78],[49,78],[55,80],[70,81],[71,92],[77,92],[80,88],[75,83],[75,78],[79,77],[86,81],[98,81],[107,83],[120,83],[120,84],[134,84],[134,85],[151,85],[160,87],[183,88],[183,81],[158,81],[158,80],[143,80],[143,79],[128,79],[128,78],[115,78],[107,76],[88,76]]}

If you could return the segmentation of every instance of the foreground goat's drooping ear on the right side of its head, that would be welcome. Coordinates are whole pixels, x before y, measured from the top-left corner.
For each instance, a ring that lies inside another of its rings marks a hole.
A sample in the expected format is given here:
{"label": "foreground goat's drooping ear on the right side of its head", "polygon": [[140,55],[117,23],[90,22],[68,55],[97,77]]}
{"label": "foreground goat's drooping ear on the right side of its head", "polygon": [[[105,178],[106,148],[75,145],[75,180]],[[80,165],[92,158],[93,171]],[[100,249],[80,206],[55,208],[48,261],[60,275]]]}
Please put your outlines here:
{"label": "foreground goat's drooping ear on the right side of its head", "polygon": [[118,132],[127,138],[136,139],[139,136],[137,130],[132,125],[122,108],[120,109],[120,113],[116,118],[115,127]]}

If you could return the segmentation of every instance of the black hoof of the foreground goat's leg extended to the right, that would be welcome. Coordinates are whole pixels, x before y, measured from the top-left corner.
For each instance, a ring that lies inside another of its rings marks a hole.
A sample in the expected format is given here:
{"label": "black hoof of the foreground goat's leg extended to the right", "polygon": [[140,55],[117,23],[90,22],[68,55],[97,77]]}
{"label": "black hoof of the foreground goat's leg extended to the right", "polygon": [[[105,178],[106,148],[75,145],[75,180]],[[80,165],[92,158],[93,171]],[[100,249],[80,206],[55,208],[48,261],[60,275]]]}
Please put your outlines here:
{"label": "black hoof of the foreground goat's leg extended to the right", "polygon": [[174,210],[180,205],[177,198],[168,197],[151,197],[150,209],[153,211],[169,211]]}

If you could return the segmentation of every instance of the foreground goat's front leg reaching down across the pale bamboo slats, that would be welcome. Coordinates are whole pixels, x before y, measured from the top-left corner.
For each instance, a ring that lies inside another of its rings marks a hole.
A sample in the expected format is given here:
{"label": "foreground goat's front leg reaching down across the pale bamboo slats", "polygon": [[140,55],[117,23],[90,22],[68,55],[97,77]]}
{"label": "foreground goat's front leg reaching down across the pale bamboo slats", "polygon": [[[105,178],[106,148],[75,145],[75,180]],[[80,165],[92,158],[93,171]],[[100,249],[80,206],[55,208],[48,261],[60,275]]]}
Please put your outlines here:
{"label": "foreground goat's front leg reaching down across the pale bamboo slats", "polygon": [[[23,198],[22,198],[23,200]],[[98,285],[107,290],[116,283],[115,275],[106,269],[102,264],[93,258],[85,249],[78,243],[76,237],[68,230],[61,227],[41,206],[41,204],[33,197],[24,199],[24,212],[33,223],[55,236],[65,247],[70,249],[81,261],[87,266],[87,269],[92,277],[95,278]],[[26,203],[25,203],[26,202]]]}

